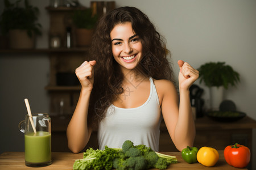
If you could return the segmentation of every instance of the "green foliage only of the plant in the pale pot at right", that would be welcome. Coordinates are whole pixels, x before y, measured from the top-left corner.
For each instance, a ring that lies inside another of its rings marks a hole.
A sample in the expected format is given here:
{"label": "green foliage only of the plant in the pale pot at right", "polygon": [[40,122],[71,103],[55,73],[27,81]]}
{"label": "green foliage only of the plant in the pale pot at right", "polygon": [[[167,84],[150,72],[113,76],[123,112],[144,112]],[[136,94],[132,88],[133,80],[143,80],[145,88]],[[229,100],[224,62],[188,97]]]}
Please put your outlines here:
{"label": "green foliage only of the plant in the pale pot at right", "polygon": [[240,75],[225,62],[208,62],[199,67],[200,83],[204,82],[205,86],[221,87],[228,89],[228,86],[236,86],[240,82]]}

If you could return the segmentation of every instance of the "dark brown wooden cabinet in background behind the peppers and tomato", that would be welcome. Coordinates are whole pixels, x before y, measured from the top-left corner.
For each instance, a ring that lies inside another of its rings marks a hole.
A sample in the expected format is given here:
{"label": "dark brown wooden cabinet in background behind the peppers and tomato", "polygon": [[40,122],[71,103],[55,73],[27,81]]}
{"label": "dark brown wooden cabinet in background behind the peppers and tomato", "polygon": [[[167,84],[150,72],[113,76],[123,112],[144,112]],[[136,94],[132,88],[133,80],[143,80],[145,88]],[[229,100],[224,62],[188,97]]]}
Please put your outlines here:
{"label": "dark brown wooden cabinet in background behind the peppers and tomato", "polygon": [[[159,151],[177,151],[170,135],[161,124]],[[253,129],[256,128],[256,121],[249,116],[234,122],[218,122],[208,116],[196,118],[196,138],[193,146],[201,148],[203,146],[213,147],[216,150],[224,150],[226,146],[239,143],[249,147],[251,151],[251,162],[247,166],[252,169],[253,157]]]}

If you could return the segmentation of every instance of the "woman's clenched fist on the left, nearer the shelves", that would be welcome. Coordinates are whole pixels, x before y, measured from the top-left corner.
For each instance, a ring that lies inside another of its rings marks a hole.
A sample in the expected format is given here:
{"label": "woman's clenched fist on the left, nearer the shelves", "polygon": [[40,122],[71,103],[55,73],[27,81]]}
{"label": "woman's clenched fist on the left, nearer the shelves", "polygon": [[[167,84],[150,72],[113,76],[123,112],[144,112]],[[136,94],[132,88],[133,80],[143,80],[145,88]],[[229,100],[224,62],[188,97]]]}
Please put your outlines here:
{"label": "woman's clenched fist on the left, nearer the shelves", "polygon": [[81,83],[82,88],[92,90],[93,88],[93,66],[96,65],[96,61],[85,61],[76,69],[76,76]]}

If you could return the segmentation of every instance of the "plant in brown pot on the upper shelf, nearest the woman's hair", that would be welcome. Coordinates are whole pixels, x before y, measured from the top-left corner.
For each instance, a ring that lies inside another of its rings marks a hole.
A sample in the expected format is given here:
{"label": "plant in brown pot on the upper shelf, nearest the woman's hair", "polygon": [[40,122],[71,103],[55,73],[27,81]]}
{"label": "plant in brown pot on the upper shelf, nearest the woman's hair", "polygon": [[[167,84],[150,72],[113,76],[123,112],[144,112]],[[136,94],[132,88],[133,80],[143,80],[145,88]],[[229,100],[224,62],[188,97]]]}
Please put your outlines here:
{"label": "plant in brown pot on the upper shelf, nearest the woman's hair", "polygon": [[86,8],[85,10],[75,10],[73,12],[72,20],[76,26],[75,35],[77,46],[90,45],[97,19],[97,15],[93,15],[91,8]]}

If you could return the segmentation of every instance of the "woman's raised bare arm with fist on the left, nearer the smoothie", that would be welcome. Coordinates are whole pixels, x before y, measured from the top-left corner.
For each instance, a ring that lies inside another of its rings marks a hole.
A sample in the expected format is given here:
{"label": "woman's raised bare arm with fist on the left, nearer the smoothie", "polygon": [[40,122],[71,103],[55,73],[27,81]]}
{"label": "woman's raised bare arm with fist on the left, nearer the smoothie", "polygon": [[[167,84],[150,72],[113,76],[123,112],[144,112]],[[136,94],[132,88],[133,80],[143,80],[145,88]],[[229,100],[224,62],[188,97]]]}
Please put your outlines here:
{"label": "woman's raised bare arm with fist on the left, nearer the smoothie", "polygon": [[86,146],[92,134],[92,128],[88,126],[88,108],[95,64],[96,61],[85,61],[76,69],[82,87],[75,112],[67,128],[68,147],[74,153],[80,152]]}

